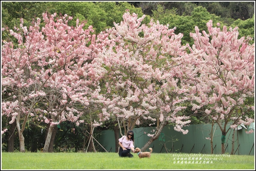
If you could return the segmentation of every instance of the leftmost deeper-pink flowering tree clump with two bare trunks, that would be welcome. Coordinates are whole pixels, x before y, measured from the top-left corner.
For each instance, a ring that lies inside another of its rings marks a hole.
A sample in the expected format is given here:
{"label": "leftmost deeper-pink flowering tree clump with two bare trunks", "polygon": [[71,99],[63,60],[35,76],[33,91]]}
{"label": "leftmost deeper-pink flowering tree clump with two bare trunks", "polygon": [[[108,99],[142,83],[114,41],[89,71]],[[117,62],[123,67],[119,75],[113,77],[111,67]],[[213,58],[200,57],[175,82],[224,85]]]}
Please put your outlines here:
{"label": "leftmost deeper-pink flowering tree clump with two bare trunks", "polygon": [[17,43],[3,41],[2,91],[9,97],[2,100],[2,115],[12,118],[10,124],[16,122],[21,152],[29,119],[50,124],[43,149],[48,152],[54,126],[84,122],[79,118],[99,94],[98,81],[106,70],[94,57],[101,43],[91,35],[92,27],[84,30],[78,20],[76,27],[68,26],[71,19],[44,13],[42,29],[39,18],[29,29],[21,19],[20,28],[9,31]]}

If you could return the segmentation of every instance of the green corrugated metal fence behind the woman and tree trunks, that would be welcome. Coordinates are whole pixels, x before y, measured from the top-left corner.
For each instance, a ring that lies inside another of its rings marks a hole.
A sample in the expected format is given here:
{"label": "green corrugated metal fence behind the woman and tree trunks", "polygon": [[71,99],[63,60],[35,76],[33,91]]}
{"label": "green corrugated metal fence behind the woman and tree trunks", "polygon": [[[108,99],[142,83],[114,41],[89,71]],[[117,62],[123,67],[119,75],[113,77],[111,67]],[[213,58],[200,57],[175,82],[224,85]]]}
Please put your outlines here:
{"label": "green corrugated metal fence behind the woman and tree trunks", "polygon": [[[134,147],[142,148],[150,139],[148,133],[155,129],[152,127],[134,128]],[[202,153],[211,154],[210,137],[211,124],[195,124],[183,127],[188,130],[187,134],[182,134],[174,130],[174,126],[166,126],[160,137],[153,141],[148,148],[153,148],[155,153]],[[226,135],[225,153],[231,153],[232,147],[232,131]],[[213,154],[221,154],[221,137],[222,132],[217,124],[213,126]],[[237,138],[238,134],[238,138]],[[254,134],[246,134],[245,129],[235,131],[234,153],[239,155],[254,155]],[[120,135],[121,137],[121,135]],[[103,131],[99,138],[101,145],[109,152],[115,150],[115,140],[113,131]],[[239,145],[240,144],[240,145]],[[238,148],[239,146],[239,148]],[[100,148],[101,149],[101,148]],[[100,150],[103,151],[103,150]],[[146,149],[149,151],[149,149]]]}

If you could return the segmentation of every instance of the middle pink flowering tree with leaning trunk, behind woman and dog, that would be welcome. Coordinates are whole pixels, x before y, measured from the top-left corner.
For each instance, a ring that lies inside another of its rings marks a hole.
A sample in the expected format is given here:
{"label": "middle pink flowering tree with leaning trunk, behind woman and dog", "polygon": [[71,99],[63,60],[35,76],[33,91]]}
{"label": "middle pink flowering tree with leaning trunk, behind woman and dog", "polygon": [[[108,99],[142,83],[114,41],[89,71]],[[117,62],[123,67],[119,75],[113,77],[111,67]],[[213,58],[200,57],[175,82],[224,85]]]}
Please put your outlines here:
{"label": "middle pink flowering tree with leaning trunk, behind woman and dog", "polygon": [[181,46],[182,34],[175,35],[175,28],[168,29],[158,21],[141,24],[144,17],[125,13],[120,24],[114,23],[115,28],[107,30],[114,43],[101,55],[108,68],[104,92],[108,107],[103,109],[101,119],[114,117],[120,128],[127,130],[143,120],[157,124],[142,150],[167,124],[188,133],[182,128],[190,120],[181,114],[185,108],[181,104],[188,100],[189,89],[183,73],[191,68],[186,47]]}

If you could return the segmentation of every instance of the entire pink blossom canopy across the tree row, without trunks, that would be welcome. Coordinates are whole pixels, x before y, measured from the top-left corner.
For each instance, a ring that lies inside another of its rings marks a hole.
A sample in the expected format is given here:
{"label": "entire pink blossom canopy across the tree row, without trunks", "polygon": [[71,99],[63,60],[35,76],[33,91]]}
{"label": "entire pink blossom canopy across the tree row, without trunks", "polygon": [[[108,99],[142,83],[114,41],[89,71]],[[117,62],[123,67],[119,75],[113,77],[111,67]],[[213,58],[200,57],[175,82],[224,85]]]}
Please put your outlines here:
{"label": "entire pink blossom canopy across the tree row, without trunks", "polygon": [[2,45],[2,115],[10,124],[30,115],[51,126],[120,120],[130,129],[159,118],[186,134],[191,121],[183,111],[191,102],[195,113],[217,123],[254,121],[246,111],[235,115],[236,109],[254,110],[245,100],[254,96],[255,77],[254,44],[238,38],[237,28],[221,30],[210,20],[207,31],[196,26],[190,34],[191,47],[182,46],[176,27],[143,24],[144,18],[124,13],[121,23],[98,35],[79,20],[69,26],[66,14],[43,13],[41,30],[41,19],[29,28],[21,20],[20,28],[9,30],[17,43]]}

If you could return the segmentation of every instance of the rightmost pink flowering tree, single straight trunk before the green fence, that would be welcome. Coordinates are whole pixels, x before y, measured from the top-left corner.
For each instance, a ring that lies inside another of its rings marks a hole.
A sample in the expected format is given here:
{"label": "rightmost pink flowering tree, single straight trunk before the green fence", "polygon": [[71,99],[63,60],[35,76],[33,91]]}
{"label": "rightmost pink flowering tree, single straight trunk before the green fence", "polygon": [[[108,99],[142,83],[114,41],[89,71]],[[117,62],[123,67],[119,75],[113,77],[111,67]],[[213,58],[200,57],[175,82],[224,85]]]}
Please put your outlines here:
{"label": "rightmost pink flowering tree, single straight trunk before the green fence", "polygon": [[[217,24],[218,25],[218,24]],[[249,125],[254,120],[248,112],[254,111],[254,103],[247,98],[254,97],[254,44],[245,37],[238,38],[237,28],[221,30],[207,23],[208,32],[191,33],[194,45],[189,47],[191,61],[195,64],[195,81],[191,89],[192,110],[201,113],[217,123],[222,131],[222,153],[225,136],[237,125]],[[227,129],[227,126],[231,125]],[[249,132],[251,133],[251,132]]]}

